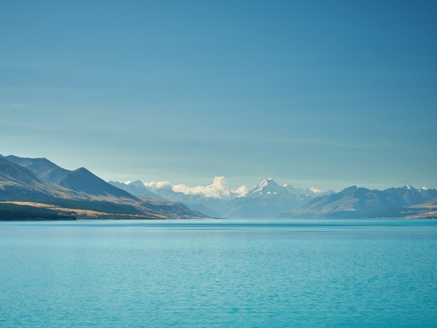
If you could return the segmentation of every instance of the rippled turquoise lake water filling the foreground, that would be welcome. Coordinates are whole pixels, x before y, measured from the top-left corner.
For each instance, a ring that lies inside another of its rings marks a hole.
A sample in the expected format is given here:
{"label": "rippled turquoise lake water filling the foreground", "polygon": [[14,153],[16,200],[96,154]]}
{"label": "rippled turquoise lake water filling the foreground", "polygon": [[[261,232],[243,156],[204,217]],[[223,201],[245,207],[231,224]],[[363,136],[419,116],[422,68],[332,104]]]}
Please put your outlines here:
{"label": "rippled turquoise lake water filling the foreground", "polygon": [[0,223],[0,326],[437,326],[437,221]]}

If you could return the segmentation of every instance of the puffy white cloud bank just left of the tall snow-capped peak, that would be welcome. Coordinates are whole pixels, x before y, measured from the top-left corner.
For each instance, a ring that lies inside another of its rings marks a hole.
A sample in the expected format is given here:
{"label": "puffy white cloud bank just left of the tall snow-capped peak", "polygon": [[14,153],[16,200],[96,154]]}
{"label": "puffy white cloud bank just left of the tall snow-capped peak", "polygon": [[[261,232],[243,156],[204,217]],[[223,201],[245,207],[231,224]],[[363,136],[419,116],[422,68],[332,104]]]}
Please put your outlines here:
{"label": "puffy white cloud bank just left of the tall snow-capped peak", "polygon": [[187,195],[202,195],[208,198],[221,199],[242,197],[248,192],[246,186],[241,186],[235,191],[230,190],[228,186],[228,180],[224,176],[216,176],[212,185],[208,186],[172,186],[168,181],[144,183],[144,186],[150,188],[152,191],[158,191],[158,189],[171,189],[174,192],[182,192]]}

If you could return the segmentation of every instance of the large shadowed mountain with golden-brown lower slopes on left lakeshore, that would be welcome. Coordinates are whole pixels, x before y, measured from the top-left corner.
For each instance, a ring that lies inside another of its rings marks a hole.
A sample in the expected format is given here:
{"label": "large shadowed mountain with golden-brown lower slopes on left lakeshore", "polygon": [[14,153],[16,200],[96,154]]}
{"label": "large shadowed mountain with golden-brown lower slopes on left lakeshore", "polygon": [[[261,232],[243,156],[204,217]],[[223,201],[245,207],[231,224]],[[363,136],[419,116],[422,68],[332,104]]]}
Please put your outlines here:
{"label": "large shadowed mountain with golden-brown lower slopes on left lakeshore", "polygon": [[[14,158],[17,160],[16,158]],[[43,174],[44,166],[51,162],[35,160],[27,166]],[[22,162],[22,163],[24,163]],[[31,162],[31,161],[30,161]],[[68,171],[56,184],[49,183],[30,170],[0,157],[0,210],[5,204],[56,208],[62,213],[82,213],[86,217],[113,218],[204,218],[204,214],[191,210],[181,203],[159,201],[154,198],[138,198],[118,189],[84,168]],[[114,216],[116,215],[116,216]],[[126,216],[131,215],[131,216]],[[135,215],[135,216],[132,216]],[[32,215],[29,214],[29,217]]]}

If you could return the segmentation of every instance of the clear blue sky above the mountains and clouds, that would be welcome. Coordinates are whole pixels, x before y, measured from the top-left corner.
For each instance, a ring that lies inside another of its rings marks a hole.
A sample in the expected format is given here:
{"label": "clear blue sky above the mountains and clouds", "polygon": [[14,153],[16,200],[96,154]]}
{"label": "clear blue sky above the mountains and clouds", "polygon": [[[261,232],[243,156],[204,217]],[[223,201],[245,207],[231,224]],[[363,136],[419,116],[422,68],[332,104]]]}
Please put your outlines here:
{"label": "clear blue sky above the mountains and clouds", "polygon": [[435,1],[3,1],[0,154],[105,180],[437,188]]}

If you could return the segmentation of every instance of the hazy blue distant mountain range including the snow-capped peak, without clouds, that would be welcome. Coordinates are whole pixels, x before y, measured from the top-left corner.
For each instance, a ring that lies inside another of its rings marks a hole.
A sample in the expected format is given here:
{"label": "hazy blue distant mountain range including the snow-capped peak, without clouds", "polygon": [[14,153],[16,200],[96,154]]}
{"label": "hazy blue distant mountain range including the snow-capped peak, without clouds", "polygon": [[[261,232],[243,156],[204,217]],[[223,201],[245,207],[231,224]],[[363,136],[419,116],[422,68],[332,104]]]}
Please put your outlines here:
{"label": "hazy blue distant mountain range including the snow-capped peak, without clouds", "polygon": [[[206,197],[202,194],[175,191],[186,188],[174,188],[169,183],[109,183],[135,195],[152,192],[162,199],[182,202],[213,217],[434,217],[437,214],[434,213],[437,190],[415,189],[410,185],[384,191],[353,186],[335,193],[333,190],[320,192],[316,188],[302,190],[288,184],[281,186],[274,179],[268,178],[259,185],[246,189],[244,194],[217,191],[216,196]],[[216,188],[220,189],[221,186],[217,185]]]}

